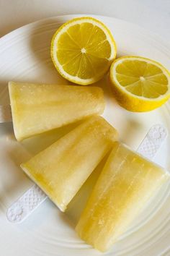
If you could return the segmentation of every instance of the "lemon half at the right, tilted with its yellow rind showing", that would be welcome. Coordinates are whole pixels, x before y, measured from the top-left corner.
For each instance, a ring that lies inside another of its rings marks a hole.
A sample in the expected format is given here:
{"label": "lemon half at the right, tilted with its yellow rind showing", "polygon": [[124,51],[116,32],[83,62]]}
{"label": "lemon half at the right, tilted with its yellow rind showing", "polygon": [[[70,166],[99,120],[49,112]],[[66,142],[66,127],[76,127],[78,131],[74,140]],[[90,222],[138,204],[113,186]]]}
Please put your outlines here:
{"label": "lemon half at the right, tilted with its yellow rind showing", "polygon": [[170,97],[170,73],[151,59],[139,56],[116,59],[109,78],[118,103],[129,111],[151,111]]}

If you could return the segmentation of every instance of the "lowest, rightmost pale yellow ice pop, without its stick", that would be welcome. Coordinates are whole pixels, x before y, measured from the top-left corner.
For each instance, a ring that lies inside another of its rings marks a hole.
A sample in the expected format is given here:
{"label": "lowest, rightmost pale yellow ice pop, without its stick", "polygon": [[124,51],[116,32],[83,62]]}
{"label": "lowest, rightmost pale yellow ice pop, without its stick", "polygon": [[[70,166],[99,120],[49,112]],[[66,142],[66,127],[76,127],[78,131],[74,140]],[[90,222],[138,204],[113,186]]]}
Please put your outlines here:
{"label": "lowest, rightmost pale yellow ice pop, without its stick", "polygon": [[164,169],[115,142],[76,226],[81,239],[109,249],[167,179]]}

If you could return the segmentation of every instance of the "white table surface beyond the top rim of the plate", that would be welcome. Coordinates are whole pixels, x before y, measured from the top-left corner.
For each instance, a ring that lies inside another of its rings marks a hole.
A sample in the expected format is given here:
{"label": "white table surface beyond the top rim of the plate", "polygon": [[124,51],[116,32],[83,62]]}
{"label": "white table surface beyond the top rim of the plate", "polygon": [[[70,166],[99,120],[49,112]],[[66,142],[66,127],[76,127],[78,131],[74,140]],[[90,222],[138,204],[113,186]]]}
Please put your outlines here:
{"label": "white table surface beyond the top rim of the plate", "polygon": [[133,22],[170,42],[170,0],[0,0],[0,37],[63,14],[98,14]]}

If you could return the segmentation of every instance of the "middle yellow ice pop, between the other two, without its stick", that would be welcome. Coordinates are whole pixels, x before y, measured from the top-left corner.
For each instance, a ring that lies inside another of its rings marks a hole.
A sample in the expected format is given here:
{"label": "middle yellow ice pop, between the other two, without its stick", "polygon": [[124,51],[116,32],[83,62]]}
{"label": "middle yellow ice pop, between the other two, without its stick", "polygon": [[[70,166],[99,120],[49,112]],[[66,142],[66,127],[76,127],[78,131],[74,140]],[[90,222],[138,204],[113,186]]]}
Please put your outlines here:
{"label": "middle yellow ice pop, between the other two, without its stick", "polygon": [[21,167],[64,211],[115,140],[117,131],[93,116]]}

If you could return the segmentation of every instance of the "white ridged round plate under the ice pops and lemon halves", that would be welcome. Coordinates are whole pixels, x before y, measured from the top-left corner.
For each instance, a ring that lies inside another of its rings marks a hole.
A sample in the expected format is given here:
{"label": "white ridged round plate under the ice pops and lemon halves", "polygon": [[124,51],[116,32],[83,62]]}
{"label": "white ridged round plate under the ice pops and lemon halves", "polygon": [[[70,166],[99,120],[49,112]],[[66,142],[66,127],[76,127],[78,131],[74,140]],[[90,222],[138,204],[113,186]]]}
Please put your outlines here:
{"label": "white ridged round plate under the ice pops and lemon halves", "polygon": [[[9,80],[63,83],[50,60],[50,40],[55,30],[75,16],[52,17],[14,30],[0,39],[0,103],[9,103],[6,84]],[[112,31],[118,55],[140,55],[160,61],[170,69],[170,48],[156,35],[122,20],[97,17]],[[103,86],[104,80],[99,82]],[[108,85],[104,85],[107,108],[104,117],[115,126],[121,140],[135,149],[152,124],[161,123],[170,132],[169,103],[156,111],[135,114],[120,108]],[[50,145],[67,129],[59,129],[22,143],[16,142],[12,124],[0,126],[0,255],[101,255],[76,236],[74,226],[86,200],[85,190],[96,179],[95,172],[71,202],[67,213],[61,213],[46,200],[24,223],[6,220],[6,209],[30,185],[19,164],[30,155]],[[169,139],[155,161],[169,168]],[[81,200],[80,200],[81,198]],[[143,210],[128,231],[105,255],[170,255],[170,187],[167,184]]]}

